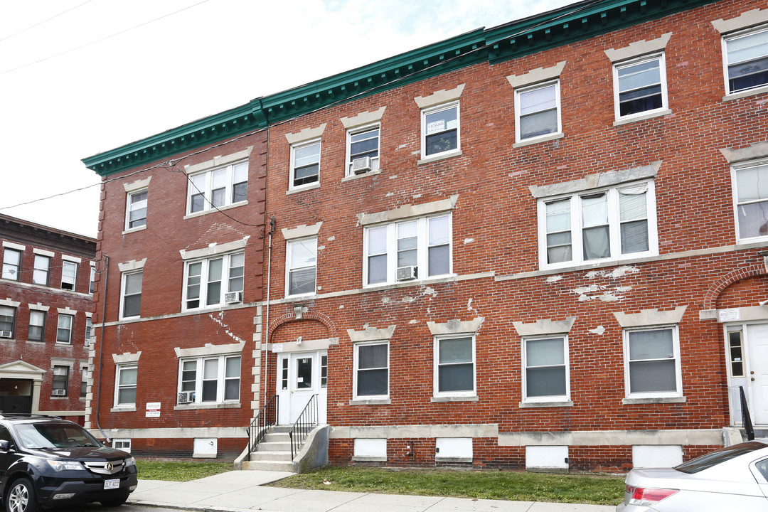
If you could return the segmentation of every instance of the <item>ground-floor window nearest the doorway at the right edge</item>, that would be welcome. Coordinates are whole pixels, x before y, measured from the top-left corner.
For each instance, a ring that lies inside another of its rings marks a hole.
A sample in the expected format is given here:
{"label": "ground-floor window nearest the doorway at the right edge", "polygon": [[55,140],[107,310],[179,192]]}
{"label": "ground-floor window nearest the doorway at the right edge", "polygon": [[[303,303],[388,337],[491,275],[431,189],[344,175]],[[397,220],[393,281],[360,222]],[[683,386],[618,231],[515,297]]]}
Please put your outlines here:
{"label": "ground-floor window nearest the doorway at the right edge", "polygon": [[624,331],[627,398],[679,397],[677,328]]}

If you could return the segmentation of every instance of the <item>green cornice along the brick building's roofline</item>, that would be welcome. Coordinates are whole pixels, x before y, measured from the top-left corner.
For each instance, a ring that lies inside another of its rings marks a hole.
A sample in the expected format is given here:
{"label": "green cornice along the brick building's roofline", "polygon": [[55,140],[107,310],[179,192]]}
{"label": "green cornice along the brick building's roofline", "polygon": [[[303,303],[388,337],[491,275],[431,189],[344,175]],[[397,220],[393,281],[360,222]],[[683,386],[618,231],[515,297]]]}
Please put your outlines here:
{"label": "green cornice along the brick building's roofline", "polygon": [[717,0],[586,0],[345,71],[83,159],[102,177],[478,62],[496,64]]}

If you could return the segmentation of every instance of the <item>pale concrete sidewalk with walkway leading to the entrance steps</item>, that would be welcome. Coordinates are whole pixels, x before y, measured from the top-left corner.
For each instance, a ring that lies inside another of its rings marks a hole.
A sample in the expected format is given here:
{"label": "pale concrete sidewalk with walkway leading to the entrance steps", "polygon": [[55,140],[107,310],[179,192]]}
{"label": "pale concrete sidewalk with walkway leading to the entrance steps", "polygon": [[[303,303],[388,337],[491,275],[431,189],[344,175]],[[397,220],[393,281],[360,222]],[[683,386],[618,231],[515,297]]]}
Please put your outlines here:
{"label": "pale concrete sidewalk with walkway leading to the entrance steps", "polygon": [[227,512],[614,512],[615,507],[533,501],[473,500],[455,497],[402,496],[338,491],[301,491],[262,487],[290,476],[279,471],[228,471],[190,482],[139,480],[128,500],[190,510]]}

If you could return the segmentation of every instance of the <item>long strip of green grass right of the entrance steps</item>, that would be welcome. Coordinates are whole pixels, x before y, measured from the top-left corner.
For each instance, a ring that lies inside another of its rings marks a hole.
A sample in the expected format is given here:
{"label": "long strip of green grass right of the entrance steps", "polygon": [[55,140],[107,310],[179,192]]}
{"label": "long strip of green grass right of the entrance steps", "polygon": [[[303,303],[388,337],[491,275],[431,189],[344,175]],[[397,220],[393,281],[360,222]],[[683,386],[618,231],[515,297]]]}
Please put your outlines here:
{"label": "long strip of green grass right of the entrance steps", "polygon": [[274,487],[326,491],[452,496],[488,500],[551,501],[616,505],[624,478],[603,474],[541,474],[521,471],[391,470],[324,467],[274,482]]}

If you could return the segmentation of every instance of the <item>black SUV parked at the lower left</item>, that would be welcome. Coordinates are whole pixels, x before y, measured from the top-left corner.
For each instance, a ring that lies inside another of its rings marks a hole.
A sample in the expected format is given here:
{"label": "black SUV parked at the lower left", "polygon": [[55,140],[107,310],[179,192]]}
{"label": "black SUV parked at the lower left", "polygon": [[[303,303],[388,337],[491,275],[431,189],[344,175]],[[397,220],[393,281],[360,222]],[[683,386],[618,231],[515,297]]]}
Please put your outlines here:
{"label": "black SUV parked at the lower left", "polygon": [[8,512],[101,501],[136,489],[134,457],[55,416],[0,415],[0,494]]}

